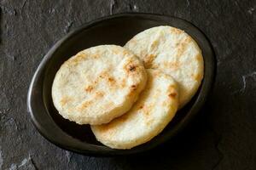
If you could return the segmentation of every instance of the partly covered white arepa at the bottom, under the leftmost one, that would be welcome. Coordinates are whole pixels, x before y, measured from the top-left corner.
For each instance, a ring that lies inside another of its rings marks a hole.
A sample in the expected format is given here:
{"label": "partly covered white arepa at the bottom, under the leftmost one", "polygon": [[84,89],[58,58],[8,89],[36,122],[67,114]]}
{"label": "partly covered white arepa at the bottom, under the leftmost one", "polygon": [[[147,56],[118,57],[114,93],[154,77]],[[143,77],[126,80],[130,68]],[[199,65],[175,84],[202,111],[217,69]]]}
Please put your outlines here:
{"label": "partly covered white arepa at the bottom, under the leftmost one", "polygon": [[107,124],[91,126],[96,139],[114,149],[148,142],[172,120],[178,106],[178,86],[162,71],[148,69],[148,82],[131,110]]}

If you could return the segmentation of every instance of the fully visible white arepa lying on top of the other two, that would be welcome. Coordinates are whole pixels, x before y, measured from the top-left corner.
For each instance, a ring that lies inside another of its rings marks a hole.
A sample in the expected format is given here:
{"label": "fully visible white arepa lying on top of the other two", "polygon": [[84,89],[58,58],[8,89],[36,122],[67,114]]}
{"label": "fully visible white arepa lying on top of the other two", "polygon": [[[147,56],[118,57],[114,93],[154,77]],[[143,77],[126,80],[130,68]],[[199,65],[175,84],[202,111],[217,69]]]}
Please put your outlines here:
{"label": "fully visible white arepa lying on top of the other two", "polygon": [[61,65],[52,99],[64,118],[102,124],[128,111],[146,82],[143,62],[131,51],[116,45],[96,46]]}

